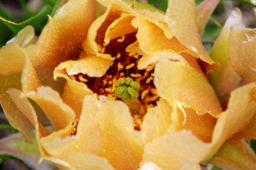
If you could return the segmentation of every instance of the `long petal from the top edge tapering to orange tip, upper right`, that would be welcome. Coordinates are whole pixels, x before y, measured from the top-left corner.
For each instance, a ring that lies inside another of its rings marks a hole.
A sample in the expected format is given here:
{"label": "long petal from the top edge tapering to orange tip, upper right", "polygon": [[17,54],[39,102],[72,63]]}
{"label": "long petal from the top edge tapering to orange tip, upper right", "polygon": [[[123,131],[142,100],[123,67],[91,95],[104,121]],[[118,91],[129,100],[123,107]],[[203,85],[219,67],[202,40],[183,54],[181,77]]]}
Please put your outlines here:
{"label": "long petal from the top edge tapering to orange tip, upper right", "polygon": [[[170,0],[166,12],[166,20],[170,31],[173,32],[182,45],[197,53],[197,58],[208,63],[208,65],[216,65],[209,57],[200,39],[195,20],[195,1]],[[208,69],[211,69],[211,66]]]}

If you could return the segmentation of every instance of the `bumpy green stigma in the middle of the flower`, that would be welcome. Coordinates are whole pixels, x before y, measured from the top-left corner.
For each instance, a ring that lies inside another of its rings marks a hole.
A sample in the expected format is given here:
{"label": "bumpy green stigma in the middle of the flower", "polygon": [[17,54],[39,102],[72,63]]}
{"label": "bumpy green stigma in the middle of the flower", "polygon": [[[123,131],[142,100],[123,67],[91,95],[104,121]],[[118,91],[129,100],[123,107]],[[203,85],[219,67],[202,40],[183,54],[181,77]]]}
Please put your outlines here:
{"label": "bumpy green stigma in the middle of the flower", "polygon": [[116,83],[116,96],[123,101],[138,98],[140,84],[130,77],[119,78]]}

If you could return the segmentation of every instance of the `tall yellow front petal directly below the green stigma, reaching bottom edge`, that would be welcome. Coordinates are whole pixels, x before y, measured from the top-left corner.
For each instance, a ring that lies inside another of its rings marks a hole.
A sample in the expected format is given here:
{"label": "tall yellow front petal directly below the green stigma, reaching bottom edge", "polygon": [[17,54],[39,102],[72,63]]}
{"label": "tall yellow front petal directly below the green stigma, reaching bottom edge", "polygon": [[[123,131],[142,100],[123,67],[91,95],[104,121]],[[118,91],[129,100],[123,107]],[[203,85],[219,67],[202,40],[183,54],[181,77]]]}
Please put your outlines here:
{"label": "tall yellow front petal directly below the green stigma, reaching bottom edge", "polygon": [[102,155],[116,169],[137,169],[143,147],[128,107],[120,101],[106,101],[98,116],[103,136]]}

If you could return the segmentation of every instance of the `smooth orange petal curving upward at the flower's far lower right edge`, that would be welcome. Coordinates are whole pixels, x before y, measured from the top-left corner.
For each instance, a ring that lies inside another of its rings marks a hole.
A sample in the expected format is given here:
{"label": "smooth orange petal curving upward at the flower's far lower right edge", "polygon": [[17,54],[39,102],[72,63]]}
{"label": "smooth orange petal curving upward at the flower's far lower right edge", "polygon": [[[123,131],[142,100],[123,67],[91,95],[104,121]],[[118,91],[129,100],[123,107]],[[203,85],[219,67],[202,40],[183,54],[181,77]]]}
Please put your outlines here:
{"label": "smooth orange petal curving upward at the flower's far lower right edge", "polygon": [[219,116],[212,137],[211,155],[231,136],[242,131],[256,112],[256,83],[233,90],[227,110]]}

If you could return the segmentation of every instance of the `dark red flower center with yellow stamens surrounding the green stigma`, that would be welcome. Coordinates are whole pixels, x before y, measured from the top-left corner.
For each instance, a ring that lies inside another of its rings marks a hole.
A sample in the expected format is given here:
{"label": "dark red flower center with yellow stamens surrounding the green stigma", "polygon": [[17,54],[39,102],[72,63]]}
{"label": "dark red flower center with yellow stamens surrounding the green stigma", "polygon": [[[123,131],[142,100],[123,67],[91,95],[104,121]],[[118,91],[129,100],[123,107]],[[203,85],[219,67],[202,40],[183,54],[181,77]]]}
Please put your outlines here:
{"label": "dark red flower center with yellow stamens surrounding the green stigma", "polygon": [[[86,85],[98,95],[108,96],[112,100],[120,100],[115,93],[118,86],[118,79],[124,77],[132,78],[132,81],[140,85],[138,89],[138,99],[132,103],[127,101],[135,122],[140,122],[143,115],[146,114],[148,107],[157,105],[159,96],[154,86],[154,65],[148,66],[146,69],[139,70],[137,65],[142,55],[138,53],[128,53],[126,48],[136,41],[136,32],[118,37],[110,41],[108,45],[100,46],[102,53],[108,53],[116,57],[113,66],[110,66],[106,74],[102,77],[89,77],[88,75],[79,74],[75,79],[85,82]],[[140,109],[138,109],[140,107]],[[136,120],[138,119],[138,121]],[[136,126],[135,126],[136,128]],[[138,127],[137,127],[138,128]]]}

